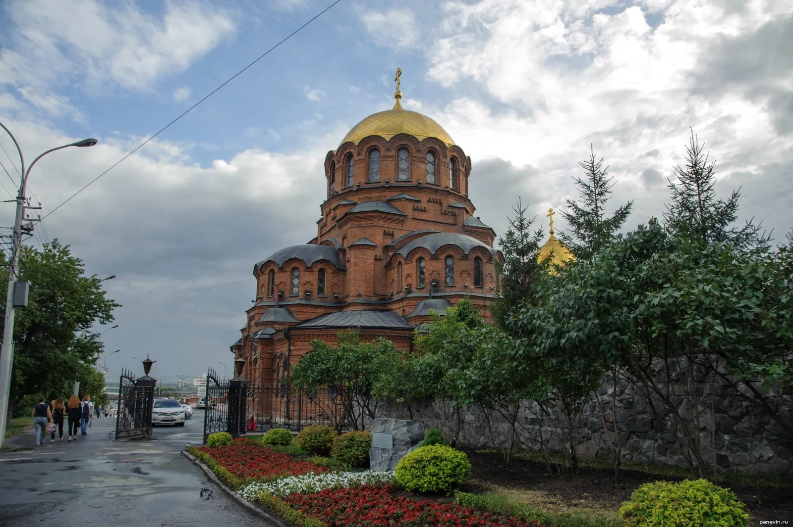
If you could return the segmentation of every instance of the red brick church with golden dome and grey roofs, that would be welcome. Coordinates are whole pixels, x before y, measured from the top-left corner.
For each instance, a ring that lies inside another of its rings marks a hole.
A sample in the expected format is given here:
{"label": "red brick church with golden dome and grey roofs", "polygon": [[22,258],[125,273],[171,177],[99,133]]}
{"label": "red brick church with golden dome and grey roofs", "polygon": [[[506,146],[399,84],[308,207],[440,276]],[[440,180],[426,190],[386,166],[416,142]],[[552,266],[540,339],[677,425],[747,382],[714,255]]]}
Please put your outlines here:
{"label": "red brick church with golden dome and grey roofs", "polygon": [[358,329],[412,348],[428,312],[499,290],[496,234],[469,196],[471,160],[433,119],[402,108],[356,124],[325,157],[317,235],[255,264],[255,304],[231,347],[243,377],[273,385],[310,349]]}

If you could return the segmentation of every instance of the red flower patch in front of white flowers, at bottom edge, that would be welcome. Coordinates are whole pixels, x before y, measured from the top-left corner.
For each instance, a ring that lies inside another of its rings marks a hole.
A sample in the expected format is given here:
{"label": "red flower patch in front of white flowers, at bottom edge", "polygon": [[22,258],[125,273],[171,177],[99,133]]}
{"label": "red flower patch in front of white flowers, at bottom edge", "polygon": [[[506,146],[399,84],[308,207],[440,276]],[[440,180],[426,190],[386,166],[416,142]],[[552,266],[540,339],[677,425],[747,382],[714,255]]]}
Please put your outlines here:
{"label": "red flower patch in front of white flowers, at bottom edge", "polygon": [[502,518],[454,503],[416,500],[396,494],[386,485],[328,489],[318,494],[293,494],[284,501],[297,510],[327,523],[329,527],[542,527],[517,518]]}

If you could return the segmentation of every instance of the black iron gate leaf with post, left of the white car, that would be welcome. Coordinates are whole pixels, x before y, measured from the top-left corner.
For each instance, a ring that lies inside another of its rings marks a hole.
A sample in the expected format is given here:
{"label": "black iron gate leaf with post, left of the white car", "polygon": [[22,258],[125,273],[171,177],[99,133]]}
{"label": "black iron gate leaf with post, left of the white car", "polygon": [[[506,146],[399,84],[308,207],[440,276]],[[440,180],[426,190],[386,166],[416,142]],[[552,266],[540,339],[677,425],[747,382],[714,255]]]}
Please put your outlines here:
{"label": "black iron gate leaf with post, left of the white car", "polygon": [[156,380],[145,375],[136,379],[129,370],[121,370],[118,387],[116,439],[151,435],[151,407]]}

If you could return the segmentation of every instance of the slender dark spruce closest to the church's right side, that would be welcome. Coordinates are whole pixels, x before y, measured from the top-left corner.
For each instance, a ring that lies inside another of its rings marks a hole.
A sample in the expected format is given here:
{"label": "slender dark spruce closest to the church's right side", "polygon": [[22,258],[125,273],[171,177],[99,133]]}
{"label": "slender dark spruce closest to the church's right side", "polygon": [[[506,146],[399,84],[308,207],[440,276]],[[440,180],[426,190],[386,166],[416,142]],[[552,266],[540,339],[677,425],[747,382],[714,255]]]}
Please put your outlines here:
{"label": "slender dark spruce closest to the church's right side", "polygon": [[526,211],[518,201],[515,218],[510,218],[509,228],[500,238],[504,262],[496,263],[500,277],[500,296],[489,306],[490,313],[501,328],[504,328],[510,313],[524,301],[533,298],[533,286],[538,275],[546,272],[546,264],[537,261],[537,253],[544,234],[542,229],[531,232],[534,218],[527,218]]}

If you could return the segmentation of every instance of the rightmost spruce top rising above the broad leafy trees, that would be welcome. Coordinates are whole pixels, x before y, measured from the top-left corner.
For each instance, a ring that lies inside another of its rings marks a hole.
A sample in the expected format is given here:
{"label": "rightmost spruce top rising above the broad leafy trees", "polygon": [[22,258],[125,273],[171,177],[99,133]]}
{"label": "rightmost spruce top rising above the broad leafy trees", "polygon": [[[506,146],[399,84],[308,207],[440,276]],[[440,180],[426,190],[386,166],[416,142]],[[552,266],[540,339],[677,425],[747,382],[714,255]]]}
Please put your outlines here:
{"label": "rightmost spruce top rising above the broad leafy trees", "polygon": [[692,130],[686,165],[675,168],[677,180],[668,184],[672,203],[664,214],[666,228],[676,237],[700,244],[715,242],[749,252],[767,250],[770,237],[760,233],[760,225],[754,225],[753,220],[742,227],[733,225],[741,191],[733,191],[726,200],[716,197],[715,162],[708,163],[704,148]]}

